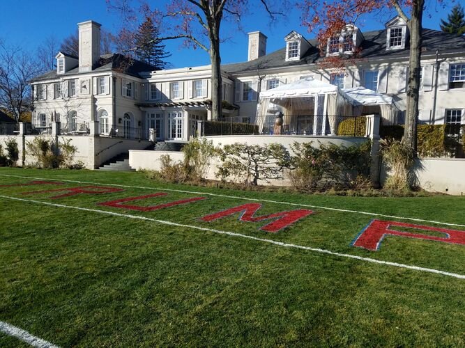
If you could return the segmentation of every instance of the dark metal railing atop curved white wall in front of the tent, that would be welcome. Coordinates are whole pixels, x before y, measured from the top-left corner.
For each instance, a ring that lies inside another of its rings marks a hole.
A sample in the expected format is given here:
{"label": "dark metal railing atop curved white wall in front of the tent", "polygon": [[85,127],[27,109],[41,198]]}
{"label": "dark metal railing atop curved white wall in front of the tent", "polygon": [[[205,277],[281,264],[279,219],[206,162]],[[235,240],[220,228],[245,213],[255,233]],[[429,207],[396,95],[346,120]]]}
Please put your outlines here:
{"label": "dark metal railing atop curved white wall in front of the tent", "polygon": [[366,136],[366,127],[365,116],[232,116],[203,122],[202,135]]}

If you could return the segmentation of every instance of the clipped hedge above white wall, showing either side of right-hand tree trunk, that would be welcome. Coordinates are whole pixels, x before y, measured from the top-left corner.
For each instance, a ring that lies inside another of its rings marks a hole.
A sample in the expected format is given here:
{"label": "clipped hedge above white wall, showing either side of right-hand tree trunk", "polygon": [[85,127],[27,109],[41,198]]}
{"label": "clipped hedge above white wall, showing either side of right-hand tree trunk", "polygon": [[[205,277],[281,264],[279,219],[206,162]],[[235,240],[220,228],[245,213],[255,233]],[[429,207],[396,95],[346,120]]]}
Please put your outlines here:
{"label": "clipped hedge above white wall, showing either side of right-hand tree trunk", "polygon": [[[449,125],[418,125],[417,147],[420,157],[455,157],[459,148],[459,138],[447,136]],[[381,126],[379,134],[382,139],[401,140],[404,125]]]}

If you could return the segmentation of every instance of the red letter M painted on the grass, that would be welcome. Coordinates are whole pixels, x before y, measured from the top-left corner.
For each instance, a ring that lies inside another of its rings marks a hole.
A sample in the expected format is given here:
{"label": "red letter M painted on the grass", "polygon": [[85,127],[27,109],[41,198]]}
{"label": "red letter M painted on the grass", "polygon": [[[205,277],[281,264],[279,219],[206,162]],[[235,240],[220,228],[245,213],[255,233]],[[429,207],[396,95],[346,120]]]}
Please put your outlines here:
{"label": "red letter M painted on the grass", "polygon": [[239,216],[240,221],[250,221],[250,222],[257,222],[269,219],[276,219],[273,222],[268,223],[267,225],[261,227],[261,230],[265,230],[267,232],[277,232],[282,230],[292,223],[303,219],[305,216],[313,214],[312,210],[307,209],[298,209],[292,210],[291,212],[279,212],[275,214],[269,214],[264,216],[254,216],[258,209],[261,208],[260,203],[248,203],[244,205],[239,205],[238,207],[234,207],[231,209],[223,210],[222,212],[211,214],[204,216],[201,218],[202,221],[215,221],[217,219],[222,219],[229,215],[234,215],[241,212],[241,216]]}

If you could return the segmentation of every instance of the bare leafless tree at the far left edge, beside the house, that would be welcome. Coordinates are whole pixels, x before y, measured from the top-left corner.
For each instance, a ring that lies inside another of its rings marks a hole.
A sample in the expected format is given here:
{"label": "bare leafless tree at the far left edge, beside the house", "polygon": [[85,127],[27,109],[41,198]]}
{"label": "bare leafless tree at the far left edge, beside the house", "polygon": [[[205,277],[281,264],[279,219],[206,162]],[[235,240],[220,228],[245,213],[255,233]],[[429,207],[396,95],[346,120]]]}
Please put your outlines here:
{"label": "bare leafless tree at the far left edge, beside the house", "polygon": [[16,122],[20,122],[29,109],[29,81],[38,73],[40,67],[32,56],[19,47],[8,47],[0,42],[0,106]]}

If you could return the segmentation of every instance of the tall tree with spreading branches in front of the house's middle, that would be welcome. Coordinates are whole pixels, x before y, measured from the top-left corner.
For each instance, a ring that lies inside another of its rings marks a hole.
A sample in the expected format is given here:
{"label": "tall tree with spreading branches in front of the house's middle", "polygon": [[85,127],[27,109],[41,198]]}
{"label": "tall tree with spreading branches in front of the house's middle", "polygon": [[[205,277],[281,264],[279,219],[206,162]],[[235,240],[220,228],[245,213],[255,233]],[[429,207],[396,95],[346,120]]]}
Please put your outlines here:
{"label": "tall tree with spreading branches in front of the house's middle", "polygon": [[[284,15],[275,8],[286,8],[287,0],[173,0],[166,10],[160,11],[157,1],[145,1],[141,8],[133,8],[131,0],[106,0],[110,8],[118,10],[126,22],[134,22],[137,14],[153,17],[159,27],[167,30],[166,35],[157,40],[184,39],[188,47],[201,48],[210,56],[212,116],[222,115],[222,77],[220,42],[223,19],[240,25],[241,19],[250,8],[263,6],[271,19]],[[135,48],[137,49],[137,48]]]}

